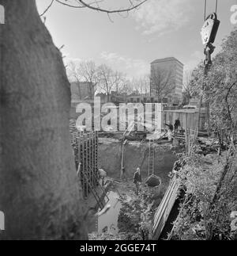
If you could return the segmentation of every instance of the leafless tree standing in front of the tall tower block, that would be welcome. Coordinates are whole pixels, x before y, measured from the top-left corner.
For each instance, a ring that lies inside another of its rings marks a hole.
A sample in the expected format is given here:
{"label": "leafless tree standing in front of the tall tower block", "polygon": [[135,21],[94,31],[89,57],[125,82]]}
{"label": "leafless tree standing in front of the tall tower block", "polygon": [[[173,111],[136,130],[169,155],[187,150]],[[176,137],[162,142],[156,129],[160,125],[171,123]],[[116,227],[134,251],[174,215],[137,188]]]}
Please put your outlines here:
{"label": "leafless tree standing in front of the tall tower block", "polygon": [[151,93],[162,101],[175,89],[174,74],[171,69],[155,69],[151,72]]}

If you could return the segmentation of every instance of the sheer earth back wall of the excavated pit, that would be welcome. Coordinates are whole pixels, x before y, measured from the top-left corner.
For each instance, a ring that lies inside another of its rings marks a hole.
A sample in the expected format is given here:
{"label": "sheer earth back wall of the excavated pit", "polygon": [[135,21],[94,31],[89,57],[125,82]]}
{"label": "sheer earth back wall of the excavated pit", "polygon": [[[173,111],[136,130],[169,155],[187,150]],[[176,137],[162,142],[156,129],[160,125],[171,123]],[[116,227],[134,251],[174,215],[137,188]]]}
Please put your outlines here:
{"label": "sheer earth back wall of the excavated pit", "polygon": [[[155,147],[154,174],[161,178],[163,185],[167,185],[167,174],[172,170],[177,160],[171,143],[153,144]],[[110,178],[119,179],[121,172],[122,142],[119,139],[100,138],[98,147],[98,166],[107,171]],[[149,171],[149,143],[128,141],[124,147],[124,176],[128,180],[134,177],[137,167],[141,169],[143,179],[148,177]]]}

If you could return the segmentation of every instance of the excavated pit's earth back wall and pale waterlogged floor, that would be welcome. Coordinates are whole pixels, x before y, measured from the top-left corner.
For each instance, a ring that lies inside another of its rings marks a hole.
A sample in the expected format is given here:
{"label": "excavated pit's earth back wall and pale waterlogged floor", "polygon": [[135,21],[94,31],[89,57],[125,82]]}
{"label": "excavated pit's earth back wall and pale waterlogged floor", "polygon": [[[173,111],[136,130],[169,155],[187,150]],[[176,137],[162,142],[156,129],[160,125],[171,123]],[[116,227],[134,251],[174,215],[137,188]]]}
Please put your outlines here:
{"label": "excavated pit's earth back wall and pale waterlogged floor", "polygon": [[[121,159],[122,159],[122,141],[119,139],[100,138],[98,143],[98,167],[107,171],[107,177],[114,180],[120,180]],[[167,189],[170,178],[167,174],[172,170],[177,157],[175,153],[179,149],[174,148],[171,143],[153,144],[155,147],[154,174],[160,177],[162,182],[162,195]],[[102,234],[109,232],[117,234],[119,232],[119,211],[121,204],[119,195],[126,194],[129,198],[136,197],[135,186],[133,184],[134,172],[137,167],[141,168],[142,180],[148,178],[149,170],[149,142],[141,143],[139,141],[128,141],[124,147],[124,167],[125,173],[122,182],[113,184],[114,189],[109,189],[107,204],[111,208],[102,216],[97,217],[89,228],[90,234]],[[121,224],[121,223],[120,223]]]}

